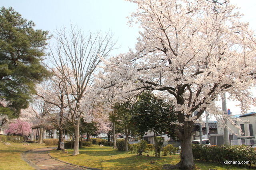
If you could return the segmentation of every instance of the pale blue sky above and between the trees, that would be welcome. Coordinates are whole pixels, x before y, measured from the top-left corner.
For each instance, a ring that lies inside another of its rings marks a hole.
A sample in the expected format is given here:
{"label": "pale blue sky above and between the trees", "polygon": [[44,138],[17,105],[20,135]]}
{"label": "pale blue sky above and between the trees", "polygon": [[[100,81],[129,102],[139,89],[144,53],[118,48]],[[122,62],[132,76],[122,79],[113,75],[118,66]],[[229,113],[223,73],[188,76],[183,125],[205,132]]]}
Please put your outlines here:
{"label": "pale blue sky above and between the trees", "polygon": [[[224,2],[224,0],[218,0]],[[53,32],[62,26],[70,28],[77,25],[84,33],[112,31],[114,39],[118,40],[119,49],[112,55],[128,52],[129,47],[134,48],[136,38],[139,36],[138,25],[130,27],[127,16],[137,8],[125,0],[0,0],[1,6],[13,7],[23,18],[36,23],[36,29]],[[250,28],[256,30],[256,1],[230,0],[232,4],[241,7],[239,10],[245,16],[243,21],[250,23]],[[254,89],[254,91],[256,91]],[[256,94],[255,94],[256,96]],[[239,113],[234,102],[228,102],[227,108]],[[256,107],[252,108],[255,109]]]}

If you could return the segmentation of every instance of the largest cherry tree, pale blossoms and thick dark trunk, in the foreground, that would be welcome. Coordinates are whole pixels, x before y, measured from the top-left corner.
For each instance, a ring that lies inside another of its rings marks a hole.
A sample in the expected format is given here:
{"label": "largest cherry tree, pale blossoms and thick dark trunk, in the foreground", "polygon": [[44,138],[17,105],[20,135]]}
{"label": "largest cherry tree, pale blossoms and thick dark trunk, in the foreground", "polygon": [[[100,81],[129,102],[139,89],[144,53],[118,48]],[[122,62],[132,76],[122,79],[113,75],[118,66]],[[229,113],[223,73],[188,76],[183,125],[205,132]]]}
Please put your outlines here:
{"label": "largest cherry tree, pale blossoms and thick dark trunk, in the foreground", "polygon": [[180,162],[167,168],[192,169],[194,122],[206,109],[220,113],[218,96],[229,93],[244,112],[255,104],[249,90],[256,80],[254,32],[229,0],[129,1],[138,4],[130,23],[136,20],[143,31],[134,51],[105,61],[100,93],[116,102],[150,89],[172,102],[182,152]]}

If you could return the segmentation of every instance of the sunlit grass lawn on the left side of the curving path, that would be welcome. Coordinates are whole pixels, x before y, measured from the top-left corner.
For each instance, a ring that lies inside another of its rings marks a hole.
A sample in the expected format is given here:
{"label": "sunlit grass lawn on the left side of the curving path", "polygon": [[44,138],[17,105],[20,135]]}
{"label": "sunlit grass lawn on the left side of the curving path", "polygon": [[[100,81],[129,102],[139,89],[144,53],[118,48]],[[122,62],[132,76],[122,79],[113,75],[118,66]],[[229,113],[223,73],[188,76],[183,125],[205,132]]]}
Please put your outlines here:
{"label": "sunlit grass lawn on the left side of the curving path", "polygon": [[30,149],[48,147],[43,144],[12,143],[4,145],[0,142],[0,170],[34,170],[21,158],[22,152]]}

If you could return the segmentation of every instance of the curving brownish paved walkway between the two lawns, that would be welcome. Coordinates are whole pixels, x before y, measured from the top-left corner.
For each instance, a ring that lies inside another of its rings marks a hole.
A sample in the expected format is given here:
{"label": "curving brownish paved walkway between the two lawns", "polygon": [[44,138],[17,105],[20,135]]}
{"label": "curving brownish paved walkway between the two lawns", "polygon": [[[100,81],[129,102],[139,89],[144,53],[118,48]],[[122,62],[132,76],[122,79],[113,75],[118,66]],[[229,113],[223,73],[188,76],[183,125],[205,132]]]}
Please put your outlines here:
{"label": "curving brownish paved walkway between the two lawns", "polygon": [[24,152],[22,159],[36,170],[96,170],[96,168],[83,168],[55,160],[48,155],[48,151],[52,149],[56,148],[42,148]]}

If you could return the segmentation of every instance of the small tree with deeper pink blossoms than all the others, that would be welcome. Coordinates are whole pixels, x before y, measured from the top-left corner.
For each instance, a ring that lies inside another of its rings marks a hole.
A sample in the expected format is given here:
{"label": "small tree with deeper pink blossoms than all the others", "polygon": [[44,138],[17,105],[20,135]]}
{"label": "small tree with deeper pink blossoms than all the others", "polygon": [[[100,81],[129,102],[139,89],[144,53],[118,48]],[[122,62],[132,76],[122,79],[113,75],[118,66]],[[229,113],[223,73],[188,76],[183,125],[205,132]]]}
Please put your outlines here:
{"label": "small tree with deeper pink blossoms than all the others", "polygon": [[20,133],[25,141],[25,136],[31,133],[31,124],[17,119],[16,121],[9,124],[9,128],[5,131],[6,133]]}

